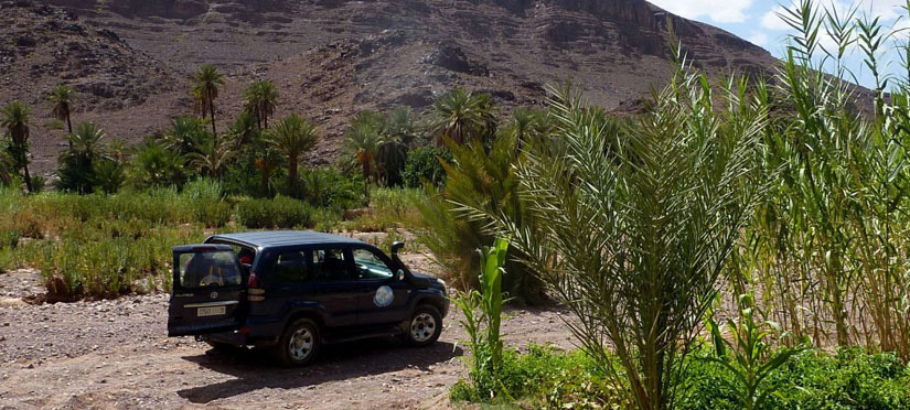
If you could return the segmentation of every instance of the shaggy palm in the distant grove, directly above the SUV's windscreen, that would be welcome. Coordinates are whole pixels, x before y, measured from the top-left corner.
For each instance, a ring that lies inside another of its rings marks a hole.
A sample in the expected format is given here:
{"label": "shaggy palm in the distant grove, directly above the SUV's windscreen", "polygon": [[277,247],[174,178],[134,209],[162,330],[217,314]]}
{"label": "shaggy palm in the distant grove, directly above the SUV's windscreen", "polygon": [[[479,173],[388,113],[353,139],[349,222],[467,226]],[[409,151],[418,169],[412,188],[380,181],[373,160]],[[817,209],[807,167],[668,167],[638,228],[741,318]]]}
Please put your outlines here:
{"label": "shaggy palm in the distant grove, directly above the SUV's windscreen", "polygon": [[351,127],[345,132],[343,148],[354,155],[361,165],[363,179],[367,183],[376,179],[376,158],[379,157],[379,149],[385,143],[384,122],[382,115],[363,111],[354,117]]}

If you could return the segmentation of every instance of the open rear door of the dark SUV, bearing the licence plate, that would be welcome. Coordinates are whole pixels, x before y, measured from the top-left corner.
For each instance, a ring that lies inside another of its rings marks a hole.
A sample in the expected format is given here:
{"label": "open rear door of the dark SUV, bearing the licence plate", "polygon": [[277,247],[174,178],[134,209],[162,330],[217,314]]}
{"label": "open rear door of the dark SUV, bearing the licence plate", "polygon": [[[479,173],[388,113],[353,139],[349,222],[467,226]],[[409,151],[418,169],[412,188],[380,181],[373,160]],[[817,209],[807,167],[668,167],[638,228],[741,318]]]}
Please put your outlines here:
{"label": "open rear door of the dark SUV, bearing the licence plate", "polygon": [[173,292],[168,336],[202,335],[239,328],[246,278],[227,245],[186,245],[173,249]]}

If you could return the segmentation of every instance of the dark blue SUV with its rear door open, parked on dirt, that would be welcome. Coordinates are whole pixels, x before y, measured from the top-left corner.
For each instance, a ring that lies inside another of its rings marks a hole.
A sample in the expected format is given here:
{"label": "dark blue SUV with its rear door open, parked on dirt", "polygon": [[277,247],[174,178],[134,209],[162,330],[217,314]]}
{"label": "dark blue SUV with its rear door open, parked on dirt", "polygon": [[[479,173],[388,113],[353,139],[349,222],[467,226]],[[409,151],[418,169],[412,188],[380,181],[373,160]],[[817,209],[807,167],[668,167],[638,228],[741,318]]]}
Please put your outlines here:
{"label": "dark blue SUV with its rear door open, parked on dirt", "polygon": [[312,231],[215,235],[173,248],[168,335],[216,348],[268,346],[285,365],[322,344],[398,335],[425,346],[442,332],[446,283],[360,240]]}

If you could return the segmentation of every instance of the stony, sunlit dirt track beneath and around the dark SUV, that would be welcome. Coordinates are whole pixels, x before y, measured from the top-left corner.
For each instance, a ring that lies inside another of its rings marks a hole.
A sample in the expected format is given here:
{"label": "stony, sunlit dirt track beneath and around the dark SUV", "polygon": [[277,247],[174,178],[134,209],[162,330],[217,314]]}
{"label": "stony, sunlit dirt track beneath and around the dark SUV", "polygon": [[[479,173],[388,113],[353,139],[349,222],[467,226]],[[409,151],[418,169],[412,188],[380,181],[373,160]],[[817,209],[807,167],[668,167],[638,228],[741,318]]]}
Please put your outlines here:
{"label": "stony, sunlit dirt track beneath and around the dark SUV", "polygon": [[[268,355],[225,356],[190,337],[165,337],[168,296],[31,305],[36,273],[0,273],[0,409],[420,409],[448,408],[465,376],[457,316],[440,341],[326,346],[310,367]],[[570,347],[559,311],[511,312],[506,341]]]}

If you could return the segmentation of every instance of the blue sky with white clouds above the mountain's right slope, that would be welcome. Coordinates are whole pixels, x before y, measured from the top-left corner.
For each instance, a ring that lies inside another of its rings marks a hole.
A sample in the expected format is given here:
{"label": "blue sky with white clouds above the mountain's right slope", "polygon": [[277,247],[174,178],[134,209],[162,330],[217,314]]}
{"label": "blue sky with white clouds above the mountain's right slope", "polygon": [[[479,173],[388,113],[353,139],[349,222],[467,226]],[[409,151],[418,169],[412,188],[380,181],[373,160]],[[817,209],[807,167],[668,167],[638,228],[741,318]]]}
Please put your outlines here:
{"label": "blue sky with white clouds above the mountain's right slope", "polygon": [[[698,20],[719,26],[760,45],[775,56],[783,54],[785,36],[789,32],[786,24],[777,13],[784,7],[791,7],[791,0],[649,0],[652,3],[687,19]],[[908,26],[907,11],[902,9],[906,0],[820,0],[818,6],[837,9],[841,12],[858,8],[859,12],[868,15],[881,17],[881,21],[893,30]],[[782,6],[783,4],[783,6]],[[896,37],[897,39],[897,37]],[[823,37],[822,44],[831,44],[831,40]],[[888,43],[893,48],[893,41]],[[891,51],[884,55],[891,61],[887,71],[897,74],[900,69],[899,53]],[[848,63],[850,69],[858,77],[859,83],[866,86],[874,84],[868,69],[861,64],[858,50],[855,50]]]}

